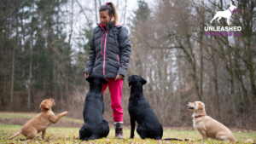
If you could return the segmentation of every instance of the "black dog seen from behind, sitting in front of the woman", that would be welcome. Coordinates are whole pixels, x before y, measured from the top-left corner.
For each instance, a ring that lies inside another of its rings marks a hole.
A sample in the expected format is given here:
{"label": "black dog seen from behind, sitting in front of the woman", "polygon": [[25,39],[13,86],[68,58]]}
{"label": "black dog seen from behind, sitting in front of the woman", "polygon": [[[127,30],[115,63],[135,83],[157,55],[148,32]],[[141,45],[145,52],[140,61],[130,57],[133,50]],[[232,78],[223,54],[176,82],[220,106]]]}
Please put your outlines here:
{"label": "black dog seen from behind, sitting in front of the woman", "polygon": [[84,125],[79,130],[80,140],[95,140],[107,137],[109,125],[102,120],[104,101],[102,97],[102,83],[108,84],[108,79],[102,73],[92,72],[86,80],[90,83],[90,90],[84,101]]}

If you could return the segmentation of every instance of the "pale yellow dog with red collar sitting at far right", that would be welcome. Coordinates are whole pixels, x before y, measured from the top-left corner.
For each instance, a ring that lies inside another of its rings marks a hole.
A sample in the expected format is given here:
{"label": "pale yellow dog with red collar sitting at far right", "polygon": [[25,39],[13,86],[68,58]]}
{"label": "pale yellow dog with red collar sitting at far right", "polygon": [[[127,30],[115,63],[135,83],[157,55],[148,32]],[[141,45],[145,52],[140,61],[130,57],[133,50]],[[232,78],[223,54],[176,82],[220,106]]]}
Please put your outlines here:
{"label": "pale yellow dog with red collar sitting at far right", "polygon": [[204,140],[209,137],[215,140],[236,141],[233,133],[224,124],[207,116],[204,103],[201,101],[189,102],[188,109],[194,112],[192,115],[193,126],[203,136]]}

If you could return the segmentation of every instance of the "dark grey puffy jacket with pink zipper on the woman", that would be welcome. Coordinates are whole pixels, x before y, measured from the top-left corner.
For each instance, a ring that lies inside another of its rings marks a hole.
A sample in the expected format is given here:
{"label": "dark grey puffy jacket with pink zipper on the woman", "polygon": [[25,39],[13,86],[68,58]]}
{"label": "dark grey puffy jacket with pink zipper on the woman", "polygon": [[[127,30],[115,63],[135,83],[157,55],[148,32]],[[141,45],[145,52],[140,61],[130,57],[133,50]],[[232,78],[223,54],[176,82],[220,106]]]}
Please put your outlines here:
{"label": "dark grey puffy jacket with pink zipper on the woman", "polygon": [[130,62],[131,43],[125,26],[114,26],[114,21],[97,24],[90,38],[90,57],[84,72],[103,72],[106,78],[116,78],[125,73]]}

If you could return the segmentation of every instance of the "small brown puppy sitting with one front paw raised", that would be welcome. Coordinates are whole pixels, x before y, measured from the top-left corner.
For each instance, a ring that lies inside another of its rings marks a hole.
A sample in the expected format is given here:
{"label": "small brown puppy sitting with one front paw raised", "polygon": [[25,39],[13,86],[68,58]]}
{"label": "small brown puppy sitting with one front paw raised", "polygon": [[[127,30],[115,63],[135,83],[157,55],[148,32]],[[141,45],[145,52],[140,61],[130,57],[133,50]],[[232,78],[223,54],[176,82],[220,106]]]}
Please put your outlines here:
{"label": "small brown puppy sitting with one front paw raised", "polygon": [[9,137],[9,139],[15,138],[17,135],[25,135],[26,140],[33,139],[39,132],[42,131],[42,138],[44,139],[46,134],[46,129],[50,124],[55,124],[57,121],[66,116],[67,112],[62,112],[55,117],[55,113],[51,111],[51,107],[55,106],[54,99],[44,100],[39,109],[41,113],[35,118],[30,119],[15,135]]}

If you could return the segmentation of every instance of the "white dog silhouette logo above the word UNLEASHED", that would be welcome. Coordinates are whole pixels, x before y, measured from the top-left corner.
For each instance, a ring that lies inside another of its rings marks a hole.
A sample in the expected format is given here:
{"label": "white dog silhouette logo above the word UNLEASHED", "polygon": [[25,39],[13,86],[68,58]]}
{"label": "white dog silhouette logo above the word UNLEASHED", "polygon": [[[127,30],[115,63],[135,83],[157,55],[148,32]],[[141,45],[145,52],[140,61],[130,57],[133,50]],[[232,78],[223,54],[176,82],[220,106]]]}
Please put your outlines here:
{"label": "white dog silhouette logo above the word UNLEASHED", "polygon": [[[214,15],[214,17],[213,17],[212,20],[215,20],[215,19],[218,18],[218,23],[219,23],[219,20],[220,20],[221,18],[226,18],[226,19],[227,19],[227,23],[228,23],[228,25],[230,26],[230,17],[231,17],[231,15],[232,15],[232,13],[235,13],[235,14],[236,14],[236,12],[238,13],[239,10],[238,10],[237,7],[236,7],[235,5],[233,5],[232,2],[231,2],[229,9],[227,9],[227,10],[225,10],[225,11],[218,11],[218,12]],[[212,24],[212,20],[211,20],[211,22],[210,22],[211,24]]]}

